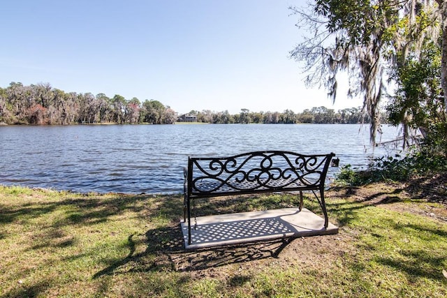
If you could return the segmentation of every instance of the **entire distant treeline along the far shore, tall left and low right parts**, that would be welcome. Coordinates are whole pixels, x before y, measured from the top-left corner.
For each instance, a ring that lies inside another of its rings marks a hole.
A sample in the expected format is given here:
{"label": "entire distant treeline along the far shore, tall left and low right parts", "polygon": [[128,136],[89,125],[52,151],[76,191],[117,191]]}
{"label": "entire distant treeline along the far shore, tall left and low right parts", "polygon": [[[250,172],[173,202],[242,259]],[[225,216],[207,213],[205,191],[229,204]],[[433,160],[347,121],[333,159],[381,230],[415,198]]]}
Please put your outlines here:
{"label": "entire distant treeline along the far shore, tall left and low right parts", "polygon": [[[112,98],[105,94],[66,93],[54,89],[50,84],[31,84],[24,86],[20,82],[11,82],[6,88],[0,88],[0,124],[173,124],[177,113],[158,100],[138,98],[126,100],[123,96]],[[344,110],[312,107],[310,110],[295,113],[250,112],[242,109],[239,114],[228,111],[202,112],[192,110],[189,116],[193,121],[211,124],[356,124],[368,123],[369,119],[360,107]]]}

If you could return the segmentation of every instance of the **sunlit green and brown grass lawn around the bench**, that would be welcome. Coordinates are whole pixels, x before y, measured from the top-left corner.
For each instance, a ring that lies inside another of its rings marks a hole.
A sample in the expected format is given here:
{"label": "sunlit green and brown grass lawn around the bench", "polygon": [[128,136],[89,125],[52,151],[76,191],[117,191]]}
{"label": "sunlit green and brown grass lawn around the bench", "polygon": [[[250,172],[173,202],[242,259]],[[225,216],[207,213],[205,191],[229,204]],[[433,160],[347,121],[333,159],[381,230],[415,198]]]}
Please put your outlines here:
{"label": "sunlit green and brown grass lawn around the bench", "polygon": [[[447,296],[447,223],[388,208],[425,203],[327,198],[339,234],[184,252],[179,195],[0,186],[0,297]],[[209,199],[196,212],[296,203]]]}

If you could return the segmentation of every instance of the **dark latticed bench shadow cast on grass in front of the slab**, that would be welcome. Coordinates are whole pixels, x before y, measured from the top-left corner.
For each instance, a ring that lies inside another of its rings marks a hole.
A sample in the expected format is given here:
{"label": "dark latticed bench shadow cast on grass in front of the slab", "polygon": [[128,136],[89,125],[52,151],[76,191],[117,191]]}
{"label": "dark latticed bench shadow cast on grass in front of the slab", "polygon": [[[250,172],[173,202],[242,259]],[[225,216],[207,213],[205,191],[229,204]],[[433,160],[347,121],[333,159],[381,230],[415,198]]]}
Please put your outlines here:
{"label": "dark latticed bench shadow cast on grass in front of the slab", "polygon": [[145,236],[145,251],[135,253],[135,242],[133,235],[130,235],[129,254],[98,271],[93,278],[137,271],[196,271],[278,258],[281,251],[293,241],[293,238],[284,238],[186,251],[180,225],[148,230]]}

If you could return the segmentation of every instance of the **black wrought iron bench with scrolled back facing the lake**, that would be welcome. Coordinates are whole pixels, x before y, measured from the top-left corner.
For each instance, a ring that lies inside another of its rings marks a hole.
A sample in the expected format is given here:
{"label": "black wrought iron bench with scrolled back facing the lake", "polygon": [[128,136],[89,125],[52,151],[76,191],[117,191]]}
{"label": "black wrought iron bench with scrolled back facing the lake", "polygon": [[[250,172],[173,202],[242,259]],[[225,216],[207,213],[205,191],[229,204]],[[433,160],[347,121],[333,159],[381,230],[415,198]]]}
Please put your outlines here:
{"label": "black wrought iron bench with scrolled back facing the lake", "polygon": [[[189,157],[184,169],[184,222],[191,244],[191,200],[257,193],[314,193],[328,228],[325,177],[335,154],[305,155],[289,151],[256,151],[228,157]],[[318,194],[316,193],[318,191]]]}

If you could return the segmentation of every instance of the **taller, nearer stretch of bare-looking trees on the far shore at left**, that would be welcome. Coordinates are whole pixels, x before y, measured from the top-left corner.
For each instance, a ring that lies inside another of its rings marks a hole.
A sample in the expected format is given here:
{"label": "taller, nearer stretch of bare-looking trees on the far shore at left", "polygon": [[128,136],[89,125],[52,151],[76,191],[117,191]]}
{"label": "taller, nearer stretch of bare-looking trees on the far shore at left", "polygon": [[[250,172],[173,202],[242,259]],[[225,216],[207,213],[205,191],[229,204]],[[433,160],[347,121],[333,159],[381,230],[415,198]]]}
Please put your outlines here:
{"label": "taller, nearer stretch of bare-looking trees on the far shore at left", "polygon": [[177,114],[158,100],[66,93],[50,84],[12,82],[0,88],[0,123],[5,124],[173,124]]}

